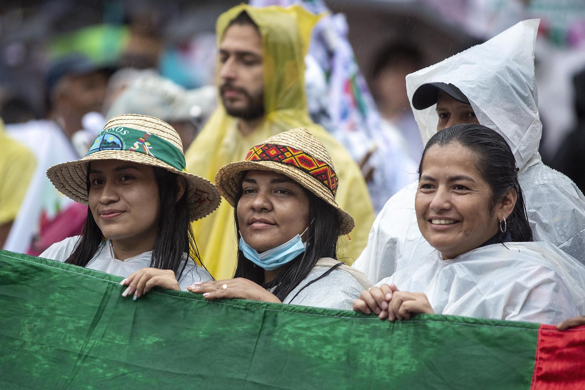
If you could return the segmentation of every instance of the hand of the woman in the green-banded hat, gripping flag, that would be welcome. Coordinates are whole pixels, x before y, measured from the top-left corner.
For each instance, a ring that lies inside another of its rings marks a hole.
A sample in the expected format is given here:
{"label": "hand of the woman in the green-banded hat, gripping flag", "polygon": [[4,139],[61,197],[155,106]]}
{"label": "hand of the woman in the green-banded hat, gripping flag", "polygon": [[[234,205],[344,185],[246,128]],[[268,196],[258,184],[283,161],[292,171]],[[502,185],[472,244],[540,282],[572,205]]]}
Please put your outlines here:
{"label": "hand of the woman in the green-banded hat, gripping flag", "polygon": [[131,273],[128,278],[120,282],[121,286],[128,286],[122,293],[122,296],[128,296],[134,293],[133,299],[146,294],[154,286],[159,286],[169,290],[180,290],[177,277],[172,269],[142,268]]}

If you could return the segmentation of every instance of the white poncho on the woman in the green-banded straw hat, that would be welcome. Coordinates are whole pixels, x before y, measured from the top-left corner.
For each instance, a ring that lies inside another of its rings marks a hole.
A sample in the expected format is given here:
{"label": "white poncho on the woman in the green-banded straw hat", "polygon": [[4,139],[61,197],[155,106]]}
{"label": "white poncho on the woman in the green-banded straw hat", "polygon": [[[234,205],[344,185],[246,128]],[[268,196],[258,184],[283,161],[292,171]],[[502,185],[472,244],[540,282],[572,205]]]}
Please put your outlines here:
{"label": "white poncho on the woman in the green-banded straw hat", "polygon": [[[39,257],[64,262],[75,249],[75,244],[79,237],[69,237],[63,241],[56,242]],[[110,240],[107,240],[99,254],[85,268],[126,278],[130,273],[136,272],[140,268],[149,267],[151,256],[152,251],[148,251],[124,261],[118,260],[114,256]],[[189,259],[187,266],[185,266],[185,271],[183,271],[183,275],[181,275],[178,282],[181,290],[186,291],[188,285],[192,285],[195,282],[209,282],[209,280],[214,280],[209,275],[209,272],[205,268],[197,266],[195,262]]]}

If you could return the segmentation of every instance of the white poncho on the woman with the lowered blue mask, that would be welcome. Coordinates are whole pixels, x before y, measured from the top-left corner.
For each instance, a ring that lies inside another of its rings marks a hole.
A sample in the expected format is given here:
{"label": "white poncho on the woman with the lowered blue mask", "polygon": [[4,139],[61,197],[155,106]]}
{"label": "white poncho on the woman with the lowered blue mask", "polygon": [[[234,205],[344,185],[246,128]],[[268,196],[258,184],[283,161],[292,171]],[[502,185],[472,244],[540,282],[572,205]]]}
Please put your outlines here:
{"label": "white poncho on the woman with the lowered blue mask", "polygon": [[[321,258],[311,269],[307,278],[294,290],[292,290],[283,300],[283,303],[292,305],[325,307],[328,309],[352,310],[353,300],[359,298],[364,289],[369,289],[371,283],[366,276],[347,265],[340,265],[329,275],[317,280],[297,295],[311,280],[315,280],[329,268],[338,264],[339,261],[332,258]],[[292,299],[295,295],[294,299]]]}

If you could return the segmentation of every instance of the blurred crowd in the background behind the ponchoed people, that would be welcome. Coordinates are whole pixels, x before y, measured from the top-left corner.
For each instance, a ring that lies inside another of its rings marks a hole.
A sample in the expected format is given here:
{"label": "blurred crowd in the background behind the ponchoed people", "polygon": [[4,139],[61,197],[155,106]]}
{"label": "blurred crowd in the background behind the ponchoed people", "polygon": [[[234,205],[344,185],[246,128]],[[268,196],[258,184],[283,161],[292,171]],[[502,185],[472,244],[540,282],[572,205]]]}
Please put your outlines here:
{"label": "blurred crowd in the background behind the ponchoed people", "polygon": [[[30,186],[38,188],[29,189],[4,242],[0,226],[0,247],[38,255],[61,236],[77,234],[87,209],[58,194],[48,196],[50,183],[39,166],[85,155],[88,143],[112,116],[135,113],[163,119],[188,148],[216,106],[216,19],[239,2],[0,4],[3,132],[27,146],[38,164],[29,173]],[[360,163],[376,211],[416,179],[424,146],[405,76],[520,20],[541,18],[536,79],[544,124],[542,158],[585,188],[583,0],[250,4],[302,4],[315,13],[328,12],[314,30],[305,61],[309,114]],[[38,226],[31,222],[37,219]]]}

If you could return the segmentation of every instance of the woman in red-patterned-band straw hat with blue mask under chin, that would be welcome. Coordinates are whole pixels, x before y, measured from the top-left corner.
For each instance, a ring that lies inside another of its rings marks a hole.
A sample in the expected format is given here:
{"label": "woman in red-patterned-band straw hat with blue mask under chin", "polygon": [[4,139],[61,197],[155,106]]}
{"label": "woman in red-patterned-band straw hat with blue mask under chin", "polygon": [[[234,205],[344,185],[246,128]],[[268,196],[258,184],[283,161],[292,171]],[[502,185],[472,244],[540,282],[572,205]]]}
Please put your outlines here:
{"label": "woman in red-patterned-band straw hat with blue mask under chin", "polygon": [[242,298],[351,309],[371,283],[336,259],[351,215],[335,202],[338,177],[325,146],[303,128],[272,136],[215,183],[235,208],[235,279],[188,287],[207,299]]}

